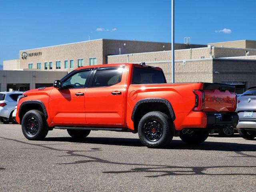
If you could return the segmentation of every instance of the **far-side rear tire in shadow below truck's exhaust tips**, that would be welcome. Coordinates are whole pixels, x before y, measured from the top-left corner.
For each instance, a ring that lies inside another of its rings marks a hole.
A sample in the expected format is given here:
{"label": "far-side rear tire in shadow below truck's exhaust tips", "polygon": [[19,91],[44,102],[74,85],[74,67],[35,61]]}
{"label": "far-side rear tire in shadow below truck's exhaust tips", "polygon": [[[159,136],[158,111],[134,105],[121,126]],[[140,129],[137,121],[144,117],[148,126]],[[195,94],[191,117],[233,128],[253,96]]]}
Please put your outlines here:
{"label": "far-side rear tire in shadow below truck's exhaust tips", "polygon": [[208,130],[194,131],[191,134],[183,134],[180,132],[180,139],[187,144],[200,144],[208,138],[208,135]]}

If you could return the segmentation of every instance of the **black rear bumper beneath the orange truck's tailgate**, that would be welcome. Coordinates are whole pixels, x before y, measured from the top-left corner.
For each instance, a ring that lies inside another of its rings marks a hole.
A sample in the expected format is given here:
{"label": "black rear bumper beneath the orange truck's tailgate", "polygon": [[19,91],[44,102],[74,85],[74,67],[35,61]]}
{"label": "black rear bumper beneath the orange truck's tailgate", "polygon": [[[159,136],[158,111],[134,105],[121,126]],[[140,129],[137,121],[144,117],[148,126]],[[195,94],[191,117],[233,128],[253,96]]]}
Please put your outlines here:
{"label": "black rear bumper beneath the orange truck's tailgate", "polygon": [[236,112],[225,113],[206,113],[206,128],[226,128],[229,126],[236,127],[238,124],[238,114]]}

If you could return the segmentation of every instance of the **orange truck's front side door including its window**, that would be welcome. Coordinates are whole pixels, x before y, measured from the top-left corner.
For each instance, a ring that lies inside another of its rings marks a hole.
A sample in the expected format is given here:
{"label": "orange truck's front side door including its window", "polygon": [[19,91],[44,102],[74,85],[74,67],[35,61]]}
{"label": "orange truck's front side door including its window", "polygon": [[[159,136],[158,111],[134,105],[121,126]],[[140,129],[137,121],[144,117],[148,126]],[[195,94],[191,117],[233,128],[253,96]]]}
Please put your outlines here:
{"label": "orange truck's front side door including its window", "polygon": [[74,70],[61,80],[61,89],[52,89],[49,109],[54,125],[86,124],[84,97],[91,74],[92,69]]}

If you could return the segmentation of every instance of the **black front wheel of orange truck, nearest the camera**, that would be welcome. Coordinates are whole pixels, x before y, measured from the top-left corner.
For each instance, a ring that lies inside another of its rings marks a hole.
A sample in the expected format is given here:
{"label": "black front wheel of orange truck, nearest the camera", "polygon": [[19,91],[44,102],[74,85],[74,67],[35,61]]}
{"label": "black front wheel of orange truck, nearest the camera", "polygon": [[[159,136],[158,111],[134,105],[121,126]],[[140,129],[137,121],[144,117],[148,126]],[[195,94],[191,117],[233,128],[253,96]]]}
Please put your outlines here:
{"label": "black front wheel of orange truck, nearest the camera", "polygon": [[42,140],[48,134],[44,114],[38,110],[30,110],[22,118],[22,132],[28,140]]}

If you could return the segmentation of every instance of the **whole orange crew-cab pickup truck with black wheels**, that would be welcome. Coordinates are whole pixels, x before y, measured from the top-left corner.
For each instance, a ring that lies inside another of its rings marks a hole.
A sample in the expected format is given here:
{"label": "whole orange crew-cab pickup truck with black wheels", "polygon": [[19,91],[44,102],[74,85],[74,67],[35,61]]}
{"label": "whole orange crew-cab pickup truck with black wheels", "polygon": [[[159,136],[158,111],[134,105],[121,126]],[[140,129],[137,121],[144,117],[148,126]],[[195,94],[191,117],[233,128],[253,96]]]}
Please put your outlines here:
{"label": "whole orange crew-cab pickup truck with black wheels", "polygon": [[29,140],[67,129],[76,139],[91,130],[138,133],[148,147],[173,136],[199,144],[210,132],[235,127],[235,88],[216,83],[166,83],[161,68],[104,64],[77,68],[53,87],[29,90],[18,100],[16,120]]}

